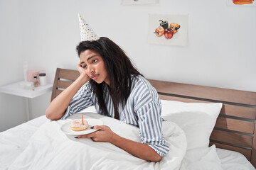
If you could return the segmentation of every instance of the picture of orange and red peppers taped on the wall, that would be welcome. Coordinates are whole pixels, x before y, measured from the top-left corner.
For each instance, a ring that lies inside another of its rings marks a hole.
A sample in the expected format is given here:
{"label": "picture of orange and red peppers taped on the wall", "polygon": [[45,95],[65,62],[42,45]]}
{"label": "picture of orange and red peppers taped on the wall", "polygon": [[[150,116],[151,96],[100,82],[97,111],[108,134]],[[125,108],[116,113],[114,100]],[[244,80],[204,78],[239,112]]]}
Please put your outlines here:
{"label": "picture of orange and red peppers taped on the wall", "polygon": [[148,42],[150,44],[185,46],[187,35],[187,14],[149,14]]}

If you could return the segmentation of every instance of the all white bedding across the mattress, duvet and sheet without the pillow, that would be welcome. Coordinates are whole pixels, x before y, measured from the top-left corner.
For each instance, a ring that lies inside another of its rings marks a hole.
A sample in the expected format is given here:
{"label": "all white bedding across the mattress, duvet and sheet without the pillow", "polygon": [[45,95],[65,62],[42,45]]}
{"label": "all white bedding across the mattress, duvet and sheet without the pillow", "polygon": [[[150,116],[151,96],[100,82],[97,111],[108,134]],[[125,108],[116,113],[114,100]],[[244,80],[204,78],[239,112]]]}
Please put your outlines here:
{"label": "all white bedding across the mattress, duvet and sheet without the pillow", "polygon": [[[75,116],[80,118],[80,115]],[[95,113],[88,114],[87,118],[101,118],[117,134],[139,141],[134,135],[137,128],[131,125]],[[171,152],[155,164],[133,157],[109,143],[66,136],[60,131],[60,125],[66,121],[49,121],[41,116],[0,132],[0,169],[178,169],[179,166],[181,170],[254,169],[242,154],[215,149],[214,145],[191,149],[185,154],[186,139],[174,123],[167,123],[169,127],[164,124],[164,136],[171,135]],[[85,152],[90,150],[93,152],[87,156]]]}

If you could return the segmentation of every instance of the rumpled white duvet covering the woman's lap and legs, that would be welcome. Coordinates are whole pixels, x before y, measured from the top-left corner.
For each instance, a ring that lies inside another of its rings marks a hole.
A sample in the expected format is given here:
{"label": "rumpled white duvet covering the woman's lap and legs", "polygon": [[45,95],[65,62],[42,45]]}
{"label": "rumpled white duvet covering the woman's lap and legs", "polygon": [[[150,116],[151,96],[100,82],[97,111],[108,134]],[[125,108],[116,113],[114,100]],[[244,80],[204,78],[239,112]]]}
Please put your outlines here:
{"label": "rumpled white duvet covering the woman's lap and legs", "polygon": [[[122,137],[139,142],[139,129],[95,113],[84,113],[86,118],[99,118]],[[70,119],[80,118],[80,114]],[[159,163],[146,162],[108,142],[75,139],[65,135],[60,126],[70,120],[48,120],[28,142],[9,169],[180,169],[186,154],[186,136],[175,123],[163,123],[170,152]]]}

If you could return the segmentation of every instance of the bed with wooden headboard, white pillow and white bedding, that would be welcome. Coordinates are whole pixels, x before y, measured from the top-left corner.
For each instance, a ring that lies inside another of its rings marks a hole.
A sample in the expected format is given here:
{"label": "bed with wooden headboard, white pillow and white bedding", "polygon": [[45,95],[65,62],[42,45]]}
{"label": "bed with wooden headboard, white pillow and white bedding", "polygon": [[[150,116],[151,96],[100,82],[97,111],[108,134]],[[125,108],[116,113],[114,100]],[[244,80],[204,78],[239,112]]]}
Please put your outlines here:
{"label": "bed with wooden headboard, white pillow and white bedding", "polygon": [[[58,68],[52,100],[78,76]],[[139,142],[138,128],[87,108],[67,120],[50,121],[42,115],[0,132],[0,169],[255,169],[256,92],[149,81],[161,98],[163,133],[170,146],[161,162],[65,134],[63,125],[82,114]]]}

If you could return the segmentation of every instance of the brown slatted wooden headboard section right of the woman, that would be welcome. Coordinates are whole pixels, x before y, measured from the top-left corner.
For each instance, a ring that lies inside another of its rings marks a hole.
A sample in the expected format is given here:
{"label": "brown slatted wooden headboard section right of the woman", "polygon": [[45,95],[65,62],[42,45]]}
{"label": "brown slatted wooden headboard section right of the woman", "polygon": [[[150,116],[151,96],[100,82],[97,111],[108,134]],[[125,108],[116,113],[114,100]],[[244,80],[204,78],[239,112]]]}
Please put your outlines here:
{"label": "brown slatted wooden headboard section right of the woman", "polygon": [[256,92],[149,79],[161,99],[223,103],[210,145],[240,152],[256,168]]}

